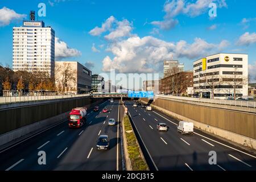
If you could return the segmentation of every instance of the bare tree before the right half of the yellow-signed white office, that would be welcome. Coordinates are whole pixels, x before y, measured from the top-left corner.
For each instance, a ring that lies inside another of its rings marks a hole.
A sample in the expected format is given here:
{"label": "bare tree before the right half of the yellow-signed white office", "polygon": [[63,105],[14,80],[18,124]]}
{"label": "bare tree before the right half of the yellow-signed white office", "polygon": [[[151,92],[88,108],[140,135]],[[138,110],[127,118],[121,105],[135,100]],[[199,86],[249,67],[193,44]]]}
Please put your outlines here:
{"label": "bare tree before the right half of the yellow-signed white office", "polygon": [[242,89],[243,86],[248,84],[248,78],[240,75],[237,68],[234,68],[232,76],[225,77],[223,80],[234,89],[234,100],[236,100],[237,89]]}

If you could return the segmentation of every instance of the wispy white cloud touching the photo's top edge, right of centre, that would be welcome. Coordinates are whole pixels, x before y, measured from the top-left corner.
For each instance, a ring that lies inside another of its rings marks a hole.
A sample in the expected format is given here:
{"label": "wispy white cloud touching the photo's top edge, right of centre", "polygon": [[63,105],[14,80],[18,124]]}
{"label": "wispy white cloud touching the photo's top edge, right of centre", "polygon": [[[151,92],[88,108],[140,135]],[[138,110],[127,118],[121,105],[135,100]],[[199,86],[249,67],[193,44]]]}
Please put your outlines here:
{"label": "wispy white cloud touching the photo's top edge, right of centre", "polygon": [[227,7],[225,0],[197,0],[187,2],[184,0],[172,0],[164,3],[163,11],[166,13],[163,20],[153,21],[151,24],[164,30],[174,28],[178,23],[175,17],[179,14],[195,17],[204,14],[209,9],[209,4],[215,2],[219,8]]}

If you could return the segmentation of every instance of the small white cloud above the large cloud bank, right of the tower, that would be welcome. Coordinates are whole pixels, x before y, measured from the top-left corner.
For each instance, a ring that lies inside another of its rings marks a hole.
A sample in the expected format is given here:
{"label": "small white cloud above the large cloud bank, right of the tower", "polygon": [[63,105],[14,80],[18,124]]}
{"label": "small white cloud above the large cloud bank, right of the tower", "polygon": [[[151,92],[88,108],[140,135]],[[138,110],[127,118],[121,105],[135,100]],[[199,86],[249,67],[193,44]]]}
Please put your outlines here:
{"label": "small white cloud above the large cloud bank, right of the tower", "polygon": [[100,36],[104,32],[108,32],[104,36],[107,40],[115,40],[118,38],[133,36],[131,31],[133,30],[133,23],[129,22],[127,19],[118,21],[114,16],[110,16],[101,27],[95,27],[89,31],[89,34],[92,36]]}

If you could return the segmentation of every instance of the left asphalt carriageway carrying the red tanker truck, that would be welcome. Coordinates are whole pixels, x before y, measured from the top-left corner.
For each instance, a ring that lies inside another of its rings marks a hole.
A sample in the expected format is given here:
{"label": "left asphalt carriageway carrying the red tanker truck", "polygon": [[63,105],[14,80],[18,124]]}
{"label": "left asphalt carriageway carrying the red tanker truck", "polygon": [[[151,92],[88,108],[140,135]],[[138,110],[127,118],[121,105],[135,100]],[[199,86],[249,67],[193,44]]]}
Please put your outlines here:
{"label": "left asphalt carriageway carrying the red tanker truck", "polygon": [[[97,170],[121,169],[119,125],[108,126],[108,119],[118,121],[118,100],[106,101],[100,110],[87,111],[87,125],[69,129],[68,121],[60,123],[14,147],[0,151],[1,171],[23,170]],[[102,109],[108,108],[108,113]],[[110,149],[97,151],[96,143],[101,134],[109,135]],[[38,152],[46,152],[46,165],[38,164]]]}

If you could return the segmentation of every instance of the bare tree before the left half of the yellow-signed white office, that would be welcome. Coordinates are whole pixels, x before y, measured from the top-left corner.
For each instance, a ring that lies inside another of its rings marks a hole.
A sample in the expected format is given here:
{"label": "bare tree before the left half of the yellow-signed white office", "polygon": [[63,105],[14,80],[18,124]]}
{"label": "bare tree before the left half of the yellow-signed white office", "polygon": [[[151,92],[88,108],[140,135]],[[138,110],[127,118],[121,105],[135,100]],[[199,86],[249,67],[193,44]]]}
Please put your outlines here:
{"label": "bare tree before the left half of the yellow-signed white office", "polygon": [[207,86],[206,89],[210,90],[210,93],[212,94],[212,99],[214,99],[214,92],[218,88],[219,85],[223,83],[221,78],[219,78],[216,75],[210,75],[206,76],[205,80],[200,80],[201,83],[205,82],[205,86]]}

